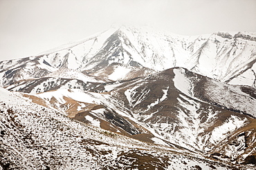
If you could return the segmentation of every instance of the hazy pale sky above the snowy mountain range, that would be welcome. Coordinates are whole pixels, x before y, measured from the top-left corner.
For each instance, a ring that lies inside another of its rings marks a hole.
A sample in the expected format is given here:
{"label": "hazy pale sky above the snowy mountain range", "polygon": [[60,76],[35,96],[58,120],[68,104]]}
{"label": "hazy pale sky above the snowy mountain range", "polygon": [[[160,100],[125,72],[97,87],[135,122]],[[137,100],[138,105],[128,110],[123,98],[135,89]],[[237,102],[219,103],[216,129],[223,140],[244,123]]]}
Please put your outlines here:
{"label": "hazy pale sky above the snowy mountain range", "polygon": [[0,0],[0,61],[84,39],[113,23],[185,35],[256,32],[256,0]]}

